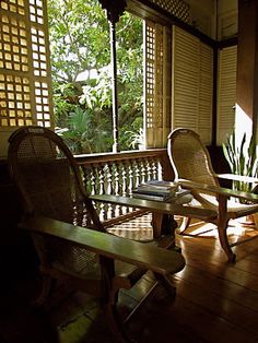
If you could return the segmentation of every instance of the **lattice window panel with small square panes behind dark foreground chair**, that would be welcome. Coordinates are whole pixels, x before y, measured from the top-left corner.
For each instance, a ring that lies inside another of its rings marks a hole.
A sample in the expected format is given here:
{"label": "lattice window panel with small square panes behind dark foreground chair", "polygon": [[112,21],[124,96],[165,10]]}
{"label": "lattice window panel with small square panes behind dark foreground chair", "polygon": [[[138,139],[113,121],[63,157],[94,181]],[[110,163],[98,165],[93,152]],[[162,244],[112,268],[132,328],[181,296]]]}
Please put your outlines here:
{"label": "lattice window panel with small square panes behind dark foreground chair", "polygon": [[52,127],[46,0],[0,1],[0,156],[17,127]]}

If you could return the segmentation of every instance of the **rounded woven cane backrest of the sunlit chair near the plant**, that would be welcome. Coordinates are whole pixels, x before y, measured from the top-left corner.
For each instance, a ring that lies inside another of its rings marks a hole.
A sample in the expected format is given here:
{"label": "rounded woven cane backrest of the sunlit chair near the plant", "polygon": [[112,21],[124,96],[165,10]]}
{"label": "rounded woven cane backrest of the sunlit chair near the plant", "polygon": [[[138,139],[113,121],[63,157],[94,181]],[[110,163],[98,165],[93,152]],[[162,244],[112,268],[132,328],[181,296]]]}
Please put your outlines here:
{"label": "rounded woven cane backrest of the sunlit chair near the plant", "polygon": [[207,147],[200,137],[188,129],[175,129],[168,135],[167,152],[176,179],[219,186]]}

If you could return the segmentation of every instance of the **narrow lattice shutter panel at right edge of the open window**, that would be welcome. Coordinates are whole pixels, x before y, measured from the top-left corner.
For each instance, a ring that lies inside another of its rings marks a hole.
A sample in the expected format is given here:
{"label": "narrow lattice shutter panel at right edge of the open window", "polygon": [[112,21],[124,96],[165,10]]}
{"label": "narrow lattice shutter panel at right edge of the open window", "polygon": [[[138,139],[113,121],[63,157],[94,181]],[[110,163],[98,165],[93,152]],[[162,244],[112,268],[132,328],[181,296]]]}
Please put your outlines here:
{"label": "narrow lattice shutter panel at right edge of the open window", "polygon": [[145,21],[144,39],[146,147],[164,147],[171,129],[171,31]]}

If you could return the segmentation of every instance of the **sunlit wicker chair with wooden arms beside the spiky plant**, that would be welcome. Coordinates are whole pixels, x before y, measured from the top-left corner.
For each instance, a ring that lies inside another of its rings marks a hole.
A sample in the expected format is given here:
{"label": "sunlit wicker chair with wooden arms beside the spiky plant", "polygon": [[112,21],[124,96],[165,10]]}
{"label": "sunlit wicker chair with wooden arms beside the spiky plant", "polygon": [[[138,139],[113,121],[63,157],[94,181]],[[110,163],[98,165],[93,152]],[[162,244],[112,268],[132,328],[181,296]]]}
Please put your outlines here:
{"label": "sunlit wicker chair with wooden arms beside the spiky plant", "polygon": [[[210,222],[216,224],[221,246],[228,260],[234,261],[236,256],[232,251],[233,245],[228,244],[226,234],[228,221],[256,213],[258,204],[254,203],[258,201],[258,197],[254,193],[233,191],[220,187],[218,181],[220,175],[215,175],[209,152],[196,132],[183,128],[174,130],[168,135],[167,150],[176,179],[185,188],[191,189],[196,200],[194,205],[216,211],[216,218]],[[230,176],[228,174],[226,175],[227,178]],[[232,178],[236,179],[236,176],[234,175]],[[254,178],[241,176],[238,179],[251,182],[258,181],[254,180]],[[242,199],[250,204],[243,204],[231,200],[230,198],[232,197]],[[185,218],[181,233],[189,224],[190,217]]]}

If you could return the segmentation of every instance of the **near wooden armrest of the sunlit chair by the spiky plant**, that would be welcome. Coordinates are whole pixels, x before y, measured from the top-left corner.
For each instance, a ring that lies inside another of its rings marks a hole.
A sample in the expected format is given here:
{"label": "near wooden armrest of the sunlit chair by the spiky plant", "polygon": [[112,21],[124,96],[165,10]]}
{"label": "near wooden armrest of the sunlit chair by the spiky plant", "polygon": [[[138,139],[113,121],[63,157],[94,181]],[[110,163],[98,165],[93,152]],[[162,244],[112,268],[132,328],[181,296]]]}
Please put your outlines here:
{"label": "near wooden armrest of the sunlit chair by the spiky plant", "polygon": [[223,187],[198,184],[198,182],[186,180],[186,179],[178,179],[178,184],[183,186],[184,188],[199,190],[207,193],[214,193],[218,196],[224,196],[226,198],[234,197],[234,198],[245,199],[254,203],[258,202],[258,194],[255,194],[251,192],[244,192],[244,191],[233,190],[233,189],[223,188]]}

